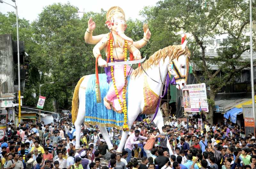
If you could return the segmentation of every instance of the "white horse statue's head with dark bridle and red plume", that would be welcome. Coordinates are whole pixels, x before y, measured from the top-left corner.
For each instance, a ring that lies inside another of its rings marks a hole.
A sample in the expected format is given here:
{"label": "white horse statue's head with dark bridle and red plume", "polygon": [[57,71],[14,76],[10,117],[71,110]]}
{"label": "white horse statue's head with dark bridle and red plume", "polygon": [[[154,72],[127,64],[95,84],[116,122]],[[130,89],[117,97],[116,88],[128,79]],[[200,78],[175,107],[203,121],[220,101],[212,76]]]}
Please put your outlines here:
{"label": "white horse statue's head with dark bridle and red plume", "polygon": [[181,45],[175,46],[168,65],[168,71],[172,76],[174,76],[176,81],[176,88],[180,90],[186,86],[189,72],[190,51],[186,46],[187,42],[185,35],[185,37],[182,38]]}

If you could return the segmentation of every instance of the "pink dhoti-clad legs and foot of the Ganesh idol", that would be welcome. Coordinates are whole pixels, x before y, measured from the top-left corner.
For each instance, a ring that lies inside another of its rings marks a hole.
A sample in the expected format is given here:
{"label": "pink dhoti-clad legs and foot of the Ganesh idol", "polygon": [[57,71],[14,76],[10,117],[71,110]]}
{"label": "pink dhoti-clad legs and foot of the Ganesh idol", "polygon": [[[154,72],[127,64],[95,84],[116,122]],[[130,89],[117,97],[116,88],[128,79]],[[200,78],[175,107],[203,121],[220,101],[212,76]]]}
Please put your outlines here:
{"label": "pink dhoti-clad legs and foot of the Ganesh idol", "polygon": [[[132,73],[132,70],[130,71],[131,66],[126,65],[126,75],[128,75],[128,73]],[[115,81],[116,81],[116,88],[119,94],[119,98],[121,99],[121,101],[123,102],[123,87],[125,84],[125,79],[124,79],[124,65],[116,65],[114,66],[114,77],[115,77]],[[111,86],[108,89],[108,93],[106,95],[106,99],[107,102],[109,104],[112,105],[112,108],[114,111],[116,112],[122,112],[121,110],[121,106],[118,102],[118,99],[116,97],[116,91],[114,88],[114,84],[112,83]]]}

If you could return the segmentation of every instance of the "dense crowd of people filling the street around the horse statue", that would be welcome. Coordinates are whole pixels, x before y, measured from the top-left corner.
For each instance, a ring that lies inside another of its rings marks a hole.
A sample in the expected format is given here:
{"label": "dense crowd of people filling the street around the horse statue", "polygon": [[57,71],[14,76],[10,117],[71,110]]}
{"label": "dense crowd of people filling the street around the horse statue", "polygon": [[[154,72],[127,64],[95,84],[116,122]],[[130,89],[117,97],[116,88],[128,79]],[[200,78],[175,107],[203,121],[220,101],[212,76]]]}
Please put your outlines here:
{"label": "dense crowd of people filling the street around the horse statue", "polygon": [[0,144],[1,169],[256,169],[254,134],[245,135],[227,120],[216,125],[204,120],[199,127],[196,119],[169,119],[159,130],[148,116],[134,122],[119,153],[122,130],[107,127],[109,149],[97,125],[82,125],[76,136],[70,119],[18,127],[9,122]]}

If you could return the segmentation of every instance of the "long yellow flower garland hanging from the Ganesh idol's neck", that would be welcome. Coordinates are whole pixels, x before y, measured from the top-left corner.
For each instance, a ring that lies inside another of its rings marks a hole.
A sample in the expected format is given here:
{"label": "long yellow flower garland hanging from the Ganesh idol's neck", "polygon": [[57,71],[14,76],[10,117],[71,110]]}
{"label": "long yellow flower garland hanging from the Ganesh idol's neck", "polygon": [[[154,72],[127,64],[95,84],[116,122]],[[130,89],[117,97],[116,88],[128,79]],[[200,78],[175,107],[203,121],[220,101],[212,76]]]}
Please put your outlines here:
{"label": "long yellow flower garland hanging from the Ganesh idol's neck", "polygon": [[[113,40],[110,39],[109,41],[110,44],[110,61],[111,63],[113,62]],[[127,61],[127,41],[124,41],[124,61]],[[124,126],[123,126],[123,131],[129,131],[129,127],[127,125],[127,106],[126,106],[126,87],[127,87],[127,80],[126,80],[126,65],[124,65],[124,87],[123,87],[123,102],[121,102],[121,99],[119,97],[117,88],[116,88],[116,81],[115,81],[115,77],[114,77],[114,66],[111,66],[110,68],[111,71],[111,77],[112,77],[112,81],[113,81],[113,85],[115,88],[115,92],[116,92],[116,97],[118,99],[118,102],[121,106],[121,109],[124,113]]]}

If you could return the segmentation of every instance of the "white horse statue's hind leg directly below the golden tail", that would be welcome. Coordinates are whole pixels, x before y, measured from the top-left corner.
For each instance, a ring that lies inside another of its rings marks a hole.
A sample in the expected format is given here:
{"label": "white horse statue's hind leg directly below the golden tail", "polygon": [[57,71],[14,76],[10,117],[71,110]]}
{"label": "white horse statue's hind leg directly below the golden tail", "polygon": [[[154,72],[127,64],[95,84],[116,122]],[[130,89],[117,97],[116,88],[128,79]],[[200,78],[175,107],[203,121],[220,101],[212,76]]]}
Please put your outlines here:
{"label": "white horse statue's hind leg directly below the golden tail", "polygon": [[79,88],[79,108],[78,108],[77,118],[75,121],[76,150],[80,149],[81,124],[84,122],[84,116],[85,116],[85,89]]}

